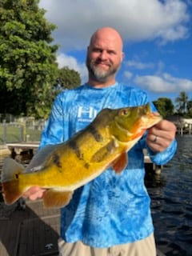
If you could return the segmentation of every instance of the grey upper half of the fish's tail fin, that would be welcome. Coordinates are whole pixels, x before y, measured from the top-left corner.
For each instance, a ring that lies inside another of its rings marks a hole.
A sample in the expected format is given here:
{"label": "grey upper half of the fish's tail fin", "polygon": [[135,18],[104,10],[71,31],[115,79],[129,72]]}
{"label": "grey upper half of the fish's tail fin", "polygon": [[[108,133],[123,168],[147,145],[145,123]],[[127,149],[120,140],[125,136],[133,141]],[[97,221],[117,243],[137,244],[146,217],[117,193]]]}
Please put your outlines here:
{"label": "grey upper half of the fish's tail fin", "polygon": [[14,174],[20,174],[24,166],[16,162],[13,158],[5,158],[2,166],[2,182],[14,179]]}

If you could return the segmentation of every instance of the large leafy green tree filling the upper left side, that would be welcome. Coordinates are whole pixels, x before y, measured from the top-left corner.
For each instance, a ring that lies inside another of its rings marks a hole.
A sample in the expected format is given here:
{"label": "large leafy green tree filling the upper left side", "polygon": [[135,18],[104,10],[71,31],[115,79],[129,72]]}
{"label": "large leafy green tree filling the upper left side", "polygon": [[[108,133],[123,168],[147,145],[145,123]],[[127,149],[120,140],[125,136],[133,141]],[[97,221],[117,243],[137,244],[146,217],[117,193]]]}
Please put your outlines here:
{"label": "large leafy green tree filling the upper left side", "polygon": [[57,45],[39,0],[0,0],[0,110],[45,117],[58,77]]}

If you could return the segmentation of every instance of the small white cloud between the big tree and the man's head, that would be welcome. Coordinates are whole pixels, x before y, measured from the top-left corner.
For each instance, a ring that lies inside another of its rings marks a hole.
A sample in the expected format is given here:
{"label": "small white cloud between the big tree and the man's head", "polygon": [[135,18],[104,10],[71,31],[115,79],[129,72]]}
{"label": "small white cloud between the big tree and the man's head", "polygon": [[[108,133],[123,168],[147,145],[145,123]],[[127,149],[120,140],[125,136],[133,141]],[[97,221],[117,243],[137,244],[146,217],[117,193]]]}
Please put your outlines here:
{"label": "small white cloud between the big tree and the man's head", "polygon": [[82,83],[87,81],[87,70],[85,63],[80,63],[76,58],[66,54],[59,54],[57,57],[57,62],[59,68],[67,66],[71,70],[78,71],[81,76]]}

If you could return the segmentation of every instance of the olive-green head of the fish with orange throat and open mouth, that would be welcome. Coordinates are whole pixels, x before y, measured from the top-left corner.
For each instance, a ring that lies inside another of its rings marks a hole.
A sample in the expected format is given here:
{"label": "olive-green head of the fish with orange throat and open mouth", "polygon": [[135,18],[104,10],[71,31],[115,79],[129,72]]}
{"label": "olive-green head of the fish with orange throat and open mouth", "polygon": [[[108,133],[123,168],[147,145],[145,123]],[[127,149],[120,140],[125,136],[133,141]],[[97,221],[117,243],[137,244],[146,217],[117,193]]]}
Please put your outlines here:
{"label": "olive-green head of the fish with orange throat and open mouth", "polygon": [[118,141],[128,142],[141,138],[142,134],[160,122],[162,117],[150,110],[150,103],[143,106],[126,107],[116,110],[114,120],[110,122],[110,134]]}

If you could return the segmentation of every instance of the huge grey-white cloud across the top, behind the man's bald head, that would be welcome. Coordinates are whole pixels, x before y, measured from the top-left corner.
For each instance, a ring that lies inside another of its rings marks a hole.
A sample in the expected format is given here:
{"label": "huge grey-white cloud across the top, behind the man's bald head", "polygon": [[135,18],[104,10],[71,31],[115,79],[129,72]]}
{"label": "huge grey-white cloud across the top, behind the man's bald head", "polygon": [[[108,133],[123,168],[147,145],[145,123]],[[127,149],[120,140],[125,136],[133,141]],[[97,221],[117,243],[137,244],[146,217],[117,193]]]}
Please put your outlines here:
{"label": "huge grey-white cloud across the top, behind the man's bald head", "polygon": [[125,42],[185,38],[189,19],[182,0],[40,0],[46,18],[58,26],[54,39],[63,50],[84,49],[101,26],[113,26]]}

